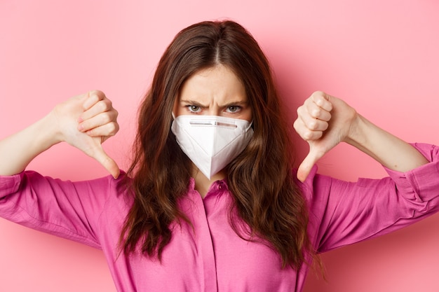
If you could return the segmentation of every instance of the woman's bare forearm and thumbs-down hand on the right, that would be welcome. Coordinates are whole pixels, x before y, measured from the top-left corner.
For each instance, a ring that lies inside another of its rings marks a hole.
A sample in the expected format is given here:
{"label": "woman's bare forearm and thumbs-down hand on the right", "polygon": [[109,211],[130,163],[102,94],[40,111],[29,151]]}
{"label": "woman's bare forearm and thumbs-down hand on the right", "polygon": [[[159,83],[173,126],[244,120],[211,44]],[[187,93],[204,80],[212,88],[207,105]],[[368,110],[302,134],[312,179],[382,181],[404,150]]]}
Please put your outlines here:
{"label": "woman's bare forearm and thumbs-down hand on the right", "polygon": [[407,172],[428,162],[410,144],[370,123],[342,99],[324,92],[314,92],[297,109],[297,114],[295,130],[309,143],[309,154],[297,172],[301,181],[317,160],[342,141],[398,172]]}

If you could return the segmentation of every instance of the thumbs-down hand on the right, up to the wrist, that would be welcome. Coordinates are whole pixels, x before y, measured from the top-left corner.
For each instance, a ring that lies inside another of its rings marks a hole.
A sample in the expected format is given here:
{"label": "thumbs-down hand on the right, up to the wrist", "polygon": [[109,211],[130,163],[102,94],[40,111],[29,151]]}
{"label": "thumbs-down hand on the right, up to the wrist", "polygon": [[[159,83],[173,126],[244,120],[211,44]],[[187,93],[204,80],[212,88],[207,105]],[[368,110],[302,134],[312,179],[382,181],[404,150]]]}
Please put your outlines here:
{"label": "thumbs-down hand on the right, up to the wrist", "polygon": [[328,151],[342,141],[349,140],[355,132],[358,113],[351,106],[327,95],[325,92],[313,92],[302,106],[297,109],[296,132],[308,142],[309,153],[297,171],[297,178],[304,181],[313,165]]}

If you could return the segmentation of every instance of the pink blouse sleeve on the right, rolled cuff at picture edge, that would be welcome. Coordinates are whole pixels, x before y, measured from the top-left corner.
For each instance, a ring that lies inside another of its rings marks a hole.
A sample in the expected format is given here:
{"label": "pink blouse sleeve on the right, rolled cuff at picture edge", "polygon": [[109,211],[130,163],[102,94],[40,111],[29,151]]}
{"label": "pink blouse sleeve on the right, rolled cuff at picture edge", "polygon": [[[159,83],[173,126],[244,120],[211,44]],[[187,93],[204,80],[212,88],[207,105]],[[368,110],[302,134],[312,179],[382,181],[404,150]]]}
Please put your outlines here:
{"label": "pink blouse sleeve on the right, rolled cuff at picture edge", "polygon": [[439,148],[414,144],[430,162],[384,179],[340,181],[311,172],[309,234],[319,252],[384,235],[439,210]]}

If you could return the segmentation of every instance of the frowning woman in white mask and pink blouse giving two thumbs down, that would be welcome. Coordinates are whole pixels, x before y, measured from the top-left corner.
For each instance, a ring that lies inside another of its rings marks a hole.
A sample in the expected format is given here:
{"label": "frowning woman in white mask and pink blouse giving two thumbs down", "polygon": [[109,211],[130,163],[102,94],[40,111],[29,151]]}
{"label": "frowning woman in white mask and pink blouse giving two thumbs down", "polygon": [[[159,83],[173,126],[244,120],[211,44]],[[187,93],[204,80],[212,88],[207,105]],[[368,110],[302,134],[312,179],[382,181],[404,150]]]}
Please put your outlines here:
{"label": "frowning woman in white mask and pink blouse giving two thumbs down", "polygon": [[[121,175],[100,147],[116,116],[102,92],[88,92],[0,141],[0,215],[102,249],[118,291],[301,291],[316,253],[438,209],[438,148],[407,144],[324,92],[298,109],[310,152],[295,172],[269,62],[236,22],[175,36]],[[24,171],[60,141],[112,176],[70,182]],[[314,162],[342,141],[389,177],[316,174]]]}

